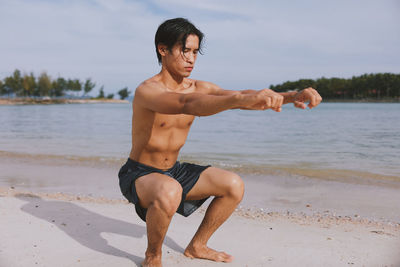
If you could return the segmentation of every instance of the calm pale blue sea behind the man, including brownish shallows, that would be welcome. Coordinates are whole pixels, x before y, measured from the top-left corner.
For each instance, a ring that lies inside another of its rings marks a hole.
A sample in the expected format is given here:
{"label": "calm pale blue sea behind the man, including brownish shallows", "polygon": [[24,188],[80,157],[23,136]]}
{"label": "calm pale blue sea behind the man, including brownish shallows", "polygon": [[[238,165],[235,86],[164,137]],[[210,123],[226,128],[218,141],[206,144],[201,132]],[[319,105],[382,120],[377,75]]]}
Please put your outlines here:
{"label": "calm pale blue sea behind the man, including brownish shallows", "polygon": [[[0,153],[123,162],[131,116],[131,104],[0,106]],[[241,173],[400,181],[400,104],[198,117],[180,159]]]}

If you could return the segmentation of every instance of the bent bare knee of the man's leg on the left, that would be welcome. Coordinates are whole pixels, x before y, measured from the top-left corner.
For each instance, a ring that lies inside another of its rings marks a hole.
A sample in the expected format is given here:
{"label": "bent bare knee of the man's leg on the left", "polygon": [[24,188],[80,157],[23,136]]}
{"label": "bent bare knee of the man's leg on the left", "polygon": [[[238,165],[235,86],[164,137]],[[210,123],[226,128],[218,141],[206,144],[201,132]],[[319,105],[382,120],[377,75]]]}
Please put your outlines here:
{"label": "bent bare knee of the man's leg on the left", "polygon": [[172,216],[182,200],[182,187],[176,181],[168,181],[160,185],[157,195],[150,205]]}

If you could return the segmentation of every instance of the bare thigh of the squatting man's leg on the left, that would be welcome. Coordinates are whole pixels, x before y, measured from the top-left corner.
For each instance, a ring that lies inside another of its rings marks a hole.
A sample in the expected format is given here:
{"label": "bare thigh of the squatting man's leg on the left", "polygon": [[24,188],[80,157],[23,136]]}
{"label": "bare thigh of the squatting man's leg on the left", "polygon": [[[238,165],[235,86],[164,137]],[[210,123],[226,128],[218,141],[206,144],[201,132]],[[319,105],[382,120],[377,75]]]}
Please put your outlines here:
{"label": "bare thigh of the squatting man's leg on the left", "polygon": [[175,179],[161,173],[150,173],[139,177],[135,181],[139,204],[148,208],[163,192],[182,190],[182,186]]}

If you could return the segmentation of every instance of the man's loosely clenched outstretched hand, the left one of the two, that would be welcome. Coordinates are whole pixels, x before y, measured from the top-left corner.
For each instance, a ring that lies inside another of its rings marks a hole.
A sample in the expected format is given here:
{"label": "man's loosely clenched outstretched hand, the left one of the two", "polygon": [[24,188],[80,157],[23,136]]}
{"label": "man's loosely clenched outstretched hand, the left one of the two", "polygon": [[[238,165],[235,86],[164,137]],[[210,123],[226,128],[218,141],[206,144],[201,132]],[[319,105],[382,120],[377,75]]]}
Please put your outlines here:
{"label": "man's loosely clenched outstretched hand, the left one of the two", "polygon": [[282,110],[283,96],[271,89],[263,89],[255,93],[244,94],[242,109],[265,110],[272,109],[276,112]]}

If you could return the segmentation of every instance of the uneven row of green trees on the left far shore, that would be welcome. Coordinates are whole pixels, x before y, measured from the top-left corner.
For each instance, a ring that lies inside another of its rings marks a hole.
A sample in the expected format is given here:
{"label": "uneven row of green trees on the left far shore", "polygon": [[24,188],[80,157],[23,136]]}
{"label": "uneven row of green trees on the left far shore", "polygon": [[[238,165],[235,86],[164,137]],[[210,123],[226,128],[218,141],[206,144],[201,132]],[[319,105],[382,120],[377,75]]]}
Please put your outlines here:
{"label": "uneven row of green trees on the left far shore", "polygon": [[[79,79],[65,79],[59,77],[51,79],[46,73],[42,72],[39,77],[30,74],[21,74],[16,69],[11,76],[0,80],[0,96],[14,95],[17,97],[65,97],[67,95],[87,97],[89,92],[96,86],[90,78],[85,81]],[[80,94],[81,93],[81,94]],[[129,96],[130,92],[125,87],[118,91],[121,99]],[[97,98],[114,98],[114,94],[104,95],[104,86],[100,87]]]}

